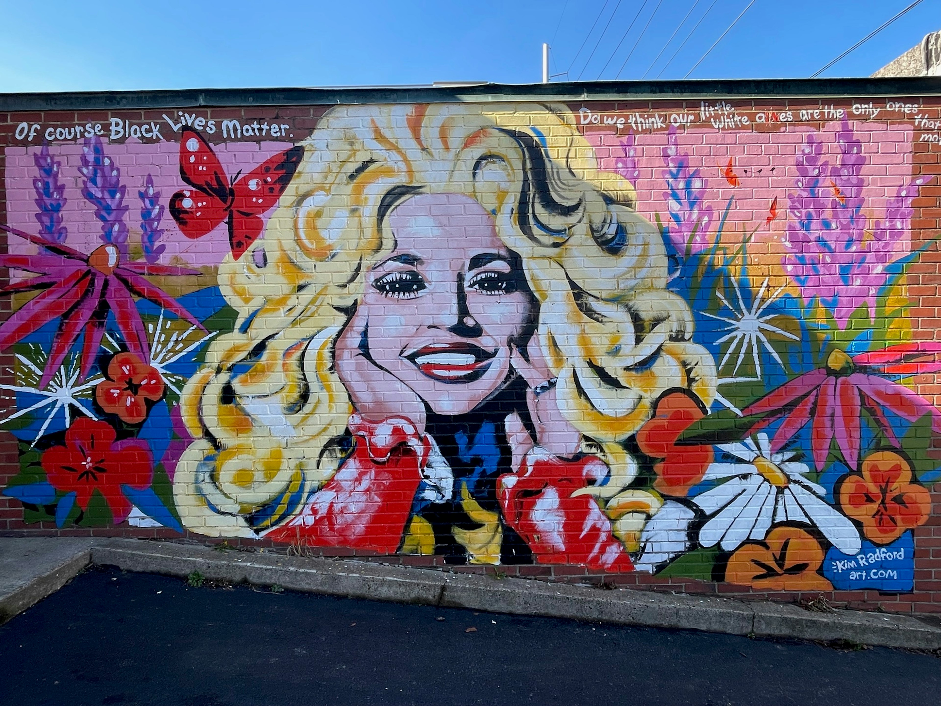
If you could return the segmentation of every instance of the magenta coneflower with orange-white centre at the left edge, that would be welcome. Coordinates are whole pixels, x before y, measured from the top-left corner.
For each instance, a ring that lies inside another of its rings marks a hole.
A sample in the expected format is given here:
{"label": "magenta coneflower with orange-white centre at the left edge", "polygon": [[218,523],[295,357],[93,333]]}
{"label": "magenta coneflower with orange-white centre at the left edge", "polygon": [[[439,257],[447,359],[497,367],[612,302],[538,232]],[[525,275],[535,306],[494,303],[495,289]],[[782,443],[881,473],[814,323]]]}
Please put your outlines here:
{"label": "magenta coneflower with orange-white centre at the left edge", "polygon": [[45,370],[42,371],[40,389],[56,375],[56,370],[83,332],[85,343],[82,345],[80,377],[85,379],[98,354],[108,312],[114,314],[128,349],[138,358],[147,358],[150,344],[144,322],[140,313],[137,313],[134,296],[152,301],[193,326],[203,328],[193,314],[144,277],[198,275],[198,270],[140,262],[124,263],[121,262],[118,248],[113,245],[103,245],[86,255],[2,224],[0,231],[19,235],[40,247],[40,254],[37,255],[0,255],[0,267],[24,269],[38,275],[0,287],[0,296],[40,291],[0,324],[0,350],[15,344],[56,317],[62,317]]}

